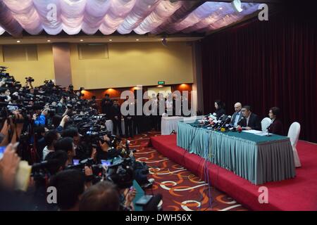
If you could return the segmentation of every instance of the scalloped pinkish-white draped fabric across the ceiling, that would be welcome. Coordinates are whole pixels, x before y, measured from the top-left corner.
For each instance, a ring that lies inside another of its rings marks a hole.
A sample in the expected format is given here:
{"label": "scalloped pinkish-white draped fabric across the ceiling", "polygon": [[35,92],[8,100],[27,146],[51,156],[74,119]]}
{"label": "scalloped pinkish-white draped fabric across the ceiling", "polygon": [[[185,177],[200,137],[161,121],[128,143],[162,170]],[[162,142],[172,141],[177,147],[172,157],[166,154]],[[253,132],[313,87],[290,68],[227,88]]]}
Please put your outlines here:
{"label": "scalloped pinkish-white draped fabric across the ceiling", "polygon": [[[225,27],[258,10],[242,3],[241,13],[228,2],[205,2],[190,12],[189,1],[166,0],[0,0],[0,35],[18,36],[23,29],[67,34],[159,34],[208,32]],[[188,13],[189,10],[189,13]]]}

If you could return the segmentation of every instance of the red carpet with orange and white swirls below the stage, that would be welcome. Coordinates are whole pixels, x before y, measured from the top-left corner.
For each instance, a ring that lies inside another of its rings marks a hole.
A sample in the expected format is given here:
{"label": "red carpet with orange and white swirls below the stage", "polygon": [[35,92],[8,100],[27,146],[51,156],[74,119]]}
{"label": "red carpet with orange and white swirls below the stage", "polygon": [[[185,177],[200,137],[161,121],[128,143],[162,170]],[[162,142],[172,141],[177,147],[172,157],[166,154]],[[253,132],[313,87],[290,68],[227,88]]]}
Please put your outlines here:
{"label": "red carpet with orange and white swirls below the stage", "polygon": [[150,167],[149,178],[155,179],[147,194],[161,193],[164,211],[247,210],[225,193],[209,186],[198,176],[149,147],[149,137],[158,135],[159,132],[149,131],[130,140],[131,148],[137,149],[135,157],[147,163]]}

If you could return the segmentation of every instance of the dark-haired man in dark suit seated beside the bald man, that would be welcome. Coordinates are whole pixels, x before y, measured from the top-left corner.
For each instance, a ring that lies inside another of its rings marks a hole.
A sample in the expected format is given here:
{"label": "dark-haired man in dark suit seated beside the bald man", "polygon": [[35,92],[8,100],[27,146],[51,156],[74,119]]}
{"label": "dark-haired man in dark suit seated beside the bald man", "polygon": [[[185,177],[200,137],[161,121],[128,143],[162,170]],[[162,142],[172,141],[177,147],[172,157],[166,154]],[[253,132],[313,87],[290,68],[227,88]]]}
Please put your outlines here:
{"label": "dark-haired man in dark suit seated beside the bald man", "polygon": [[238,123],[238,126],[242,127],[242,129],[256,129],[261,131],[260,119],[256,114],[251,113],[251,107],[249,105],[244,105],[241,112],[244,118]]}

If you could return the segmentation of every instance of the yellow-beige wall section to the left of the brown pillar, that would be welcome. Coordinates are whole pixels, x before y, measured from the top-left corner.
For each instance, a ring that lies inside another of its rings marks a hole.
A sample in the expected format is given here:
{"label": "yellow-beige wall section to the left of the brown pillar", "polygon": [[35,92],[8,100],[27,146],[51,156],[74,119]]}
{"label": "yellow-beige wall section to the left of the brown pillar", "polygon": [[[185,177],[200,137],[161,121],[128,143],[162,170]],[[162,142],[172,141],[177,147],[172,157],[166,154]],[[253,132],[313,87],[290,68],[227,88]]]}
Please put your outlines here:
{"label": "yellow-beige wall section to the left of the brown pillar", "polygon": [[4,62],[2,47],[0,46],[0,65],[8,67],[7,72],[14,75],[21,84],[25,77],[35,79],[34,86],[42,85],[45,79],[54,79],[54,60],[51,44],[37,45],[37,59],[35,61]]}

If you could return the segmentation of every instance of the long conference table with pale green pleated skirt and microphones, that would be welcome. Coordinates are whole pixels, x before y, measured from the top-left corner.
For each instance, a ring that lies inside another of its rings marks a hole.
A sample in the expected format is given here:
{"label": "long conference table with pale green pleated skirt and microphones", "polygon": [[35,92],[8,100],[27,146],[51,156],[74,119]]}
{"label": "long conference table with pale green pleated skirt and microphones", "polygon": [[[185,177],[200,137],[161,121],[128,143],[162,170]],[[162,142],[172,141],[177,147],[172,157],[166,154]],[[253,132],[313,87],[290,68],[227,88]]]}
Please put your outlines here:
{"label": "long conference table with pale green pleated skirt and microphones", "polygon": [[294,155],[287,136],[212,131],[178,122],[177,145],[228,169],[252,184],[293,178]]}

